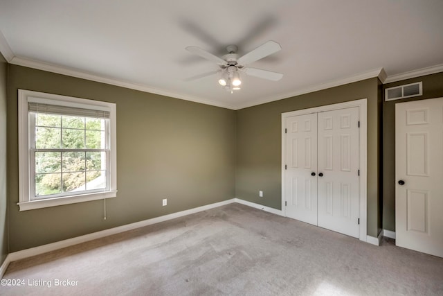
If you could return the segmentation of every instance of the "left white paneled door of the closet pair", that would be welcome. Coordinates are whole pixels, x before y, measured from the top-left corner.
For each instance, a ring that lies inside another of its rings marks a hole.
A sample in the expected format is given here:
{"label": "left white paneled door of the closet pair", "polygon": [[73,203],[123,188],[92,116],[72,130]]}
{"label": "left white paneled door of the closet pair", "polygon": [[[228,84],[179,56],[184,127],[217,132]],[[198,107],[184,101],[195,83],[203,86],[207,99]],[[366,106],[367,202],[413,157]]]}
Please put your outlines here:
{"label": "left white paneled door of the closet pair", "polygon": [[285,124],[286,215],[317,225],[317,114],[291,116]]}

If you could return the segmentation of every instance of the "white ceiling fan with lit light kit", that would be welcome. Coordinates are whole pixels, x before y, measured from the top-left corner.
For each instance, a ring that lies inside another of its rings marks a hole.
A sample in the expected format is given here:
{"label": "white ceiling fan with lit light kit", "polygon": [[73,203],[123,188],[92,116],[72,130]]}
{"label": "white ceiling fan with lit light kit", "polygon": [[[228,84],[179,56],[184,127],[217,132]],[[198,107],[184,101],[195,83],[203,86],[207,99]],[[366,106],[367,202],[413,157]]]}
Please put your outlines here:
{"label": "white ceiling fan with lit light kit", "polygon": [[201,56],[201,58],[205,58],[206,60],[210,60],[211,62],[217,63],[220,69],[218,71],[211,71],[208,73],[193,76],[186,80],[195,80],[219,73],[219,85],[230,91],[231,94],[234,90],[239,90],[240,85],[242,85],[242,80],[240,79],[239,75],[240,71],[246,73],[246,75],[248,76],[255,76],[267,80],[278,81],[283,77],[282,73],[246,67],[246,65],[260,60],[268,55],[276,53],[277,51],[280,51],[280,49],[282,49],[280,44],[274,41],[268,41],[258,46],[256,49],[253,49],[253,51],[246,53],[242,57],[238,57],[237,46],[229,45],[226,47],[228,54],[223,55],[223,57],[219,58],[217,57],[217,55],[213,55],[212,53],[205,51],[204,49],[201,49],[197,46],[188,46],[186,47],[187,51],[199,55]]}

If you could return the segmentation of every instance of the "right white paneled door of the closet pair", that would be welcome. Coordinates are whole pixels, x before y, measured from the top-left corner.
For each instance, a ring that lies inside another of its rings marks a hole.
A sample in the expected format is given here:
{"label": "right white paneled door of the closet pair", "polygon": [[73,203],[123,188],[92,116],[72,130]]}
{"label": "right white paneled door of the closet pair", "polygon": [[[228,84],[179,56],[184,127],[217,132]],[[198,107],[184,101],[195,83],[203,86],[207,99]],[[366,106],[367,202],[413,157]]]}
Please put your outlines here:
{"label": "right white paneled door of the closet pair", "polygon": [[318,226],[359,237],[359,108],[318,114]]}

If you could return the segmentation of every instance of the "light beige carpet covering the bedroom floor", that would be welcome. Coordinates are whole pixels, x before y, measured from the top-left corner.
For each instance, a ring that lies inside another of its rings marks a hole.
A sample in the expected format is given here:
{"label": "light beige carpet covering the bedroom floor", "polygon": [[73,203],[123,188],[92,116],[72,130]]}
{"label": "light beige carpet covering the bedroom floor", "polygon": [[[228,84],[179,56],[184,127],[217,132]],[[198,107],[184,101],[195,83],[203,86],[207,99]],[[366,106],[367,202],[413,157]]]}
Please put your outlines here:
{"label": "light beige carpet covering the bedroom floor", "polygon": [[16,261],[4,278],[25,285],[1,295],[443,295],[443,259],[228,204]]}

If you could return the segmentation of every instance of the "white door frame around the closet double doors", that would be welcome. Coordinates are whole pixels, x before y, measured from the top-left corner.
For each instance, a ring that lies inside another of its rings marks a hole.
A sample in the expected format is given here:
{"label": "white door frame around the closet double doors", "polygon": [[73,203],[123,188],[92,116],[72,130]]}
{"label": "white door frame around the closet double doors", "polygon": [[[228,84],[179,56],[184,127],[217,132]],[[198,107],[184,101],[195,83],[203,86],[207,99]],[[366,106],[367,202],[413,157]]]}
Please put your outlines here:
{"label": "white door frame around the closet double doors", "polygon": [[286,217],[286,207],[284,206],[284,202],[286,198],[284,196],[284,188],[286,186],[285,174],[286,170],[284,169],[285,165],[285,155],[286,155],[286,136],[284,132],[284,126],[286,119],[291,116],[298,116],[303,114],[311,114],[325,111],[332,111],[338,109],[345,109],[350,107],[359,107],[359,121],[360,121],[360,130],[359,130],[359,169],[360,169],[360,178],[359,178],[359,218],[360,218],[360,226],[359,226],[359,240],[360,241],[368,241],[367,237],[367,225],[368,225],[368,216],[367,216],[367,186],[368,186],[368,99],[361,98],[355,101],[349,101],[344,103],[336,103],[332,105],[325,105],[320,107],[312,107],[309,109],[296,110],[291,112],[282,113],[282,214]]}

